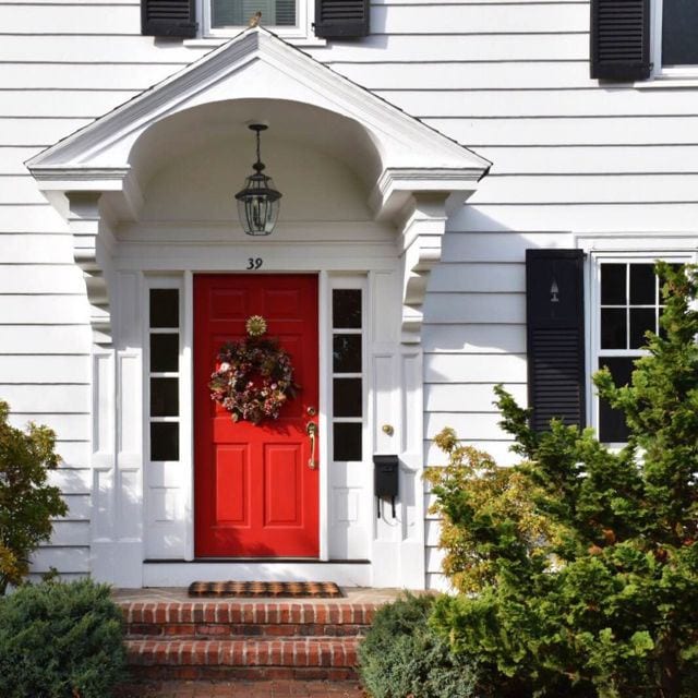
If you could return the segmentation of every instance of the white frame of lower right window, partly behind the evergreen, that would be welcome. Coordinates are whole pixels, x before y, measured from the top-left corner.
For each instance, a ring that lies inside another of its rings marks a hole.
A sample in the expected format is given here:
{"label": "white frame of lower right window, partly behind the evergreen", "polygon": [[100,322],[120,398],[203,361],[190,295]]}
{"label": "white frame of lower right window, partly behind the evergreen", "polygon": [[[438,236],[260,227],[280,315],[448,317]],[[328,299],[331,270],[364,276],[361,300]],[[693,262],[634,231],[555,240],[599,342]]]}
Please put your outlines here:
{"label": "white frame of lower right window, partly behind the evergreen", "polygon": [[[587,405],[590,417],[590,424],[594,429],[597,436],[600,436],[601,426],[599,420],[599,395],[592,382],[592,376],[599,370],[599,358],[604,357],[641,357],[647,351],[640,349],[605,349],[601,350],[601,266],[603,264],[653,264],[657,260],[673,264],[695,263],[695,254],[687,250],[675,251],[638,251],[638,252],[592,252],[591,269],[589,274],[589,340],[587,360]],[[625,443],[606,442],[611,448],[621,448]]]}

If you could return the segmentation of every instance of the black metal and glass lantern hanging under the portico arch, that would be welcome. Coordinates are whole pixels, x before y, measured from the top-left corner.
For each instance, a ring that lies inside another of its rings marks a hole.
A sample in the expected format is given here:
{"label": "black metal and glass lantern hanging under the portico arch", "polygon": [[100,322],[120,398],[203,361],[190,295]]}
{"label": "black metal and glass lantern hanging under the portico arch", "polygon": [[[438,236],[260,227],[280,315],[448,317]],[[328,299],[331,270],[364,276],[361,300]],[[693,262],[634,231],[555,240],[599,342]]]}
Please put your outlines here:
{"label": "black metal and glass lantern hanging under the portico arch", "polygon": [[264,163],[260,157],[260,132],[266,131],[263,123],[252,123],[257,134],[257,161],[252,166],[254,174],[244,182],[244,189],[236,194],[238,216],[249,236],[268,236],[279,217],[281,193],[274,188],[270,177],[263,173]]}

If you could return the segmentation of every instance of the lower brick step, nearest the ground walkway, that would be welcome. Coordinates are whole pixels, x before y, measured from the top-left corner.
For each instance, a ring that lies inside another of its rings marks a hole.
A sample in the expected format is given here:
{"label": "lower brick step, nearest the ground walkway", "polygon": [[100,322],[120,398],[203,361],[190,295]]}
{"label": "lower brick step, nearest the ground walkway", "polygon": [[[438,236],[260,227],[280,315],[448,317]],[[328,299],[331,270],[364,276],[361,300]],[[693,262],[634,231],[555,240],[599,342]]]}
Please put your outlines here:
{"label": "lower brick step, nearest the ground walkway", "polygon": [[139,678],[352,678],[358,638],[127,639]]}

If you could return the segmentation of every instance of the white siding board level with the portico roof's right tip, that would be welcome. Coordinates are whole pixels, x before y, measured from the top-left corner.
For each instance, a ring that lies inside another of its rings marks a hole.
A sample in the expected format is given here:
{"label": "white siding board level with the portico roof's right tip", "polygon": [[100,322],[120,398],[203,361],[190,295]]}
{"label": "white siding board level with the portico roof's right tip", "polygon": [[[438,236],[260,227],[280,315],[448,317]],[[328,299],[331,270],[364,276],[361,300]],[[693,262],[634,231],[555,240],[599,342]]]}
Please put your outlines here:
{"label": "white siding board level with the portico roof's right tip", "polygon": [[698,145],[488,146],[478,154],[500,174],[698,172]]}

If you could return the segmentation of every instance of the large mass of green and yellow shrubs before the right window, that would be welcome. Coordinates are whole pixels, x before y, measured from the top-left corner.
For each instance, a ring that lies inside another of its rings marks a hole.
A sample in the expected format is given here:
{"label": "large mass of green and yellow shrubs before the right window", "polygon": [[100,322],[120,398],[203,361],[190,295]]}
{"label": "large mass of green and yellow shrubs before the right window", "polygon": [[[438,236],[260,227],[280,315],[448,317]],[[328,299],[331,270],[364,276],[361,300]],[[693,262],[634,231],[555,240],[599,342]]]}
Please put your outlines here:
{"label": "large mass of green and yellow shrubs before the right window", "polygon": [[440,599],[432,624],[520,696],[698,696],[698,289],[694,267],[657,270],[663,336],[648,335],[629,386],[594,378],[626,416],[625,448],[559,422],[534,433],[502,388],[525,459],[510,474],[442,436],[435,509],[471,593]]}

